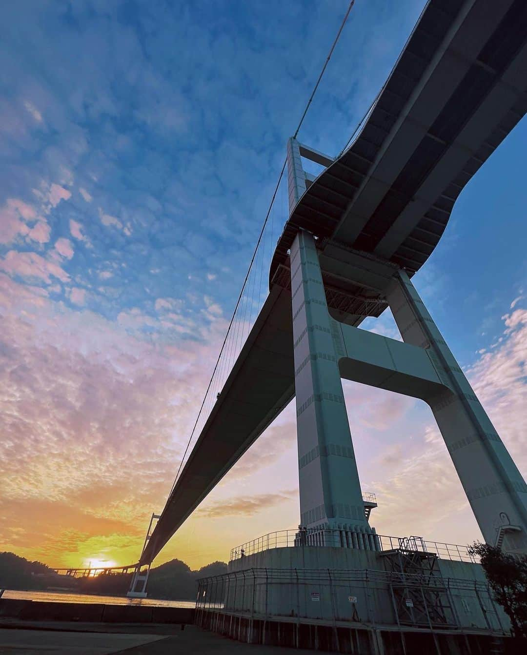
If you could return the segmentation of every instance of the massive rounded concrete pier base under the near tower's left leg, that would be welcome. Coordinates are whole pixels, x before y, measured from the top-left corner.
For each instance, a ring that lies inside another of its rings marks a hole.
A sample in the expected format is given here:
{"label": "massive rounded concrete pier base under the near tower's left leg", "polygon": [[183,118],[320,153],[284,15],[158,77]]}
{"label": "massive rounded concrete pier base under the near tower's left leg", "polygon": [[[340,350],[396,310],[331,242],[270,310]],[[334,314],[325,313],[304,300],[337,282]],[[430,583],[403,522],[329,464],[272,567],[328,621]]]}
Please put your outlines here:
{"label": "massive rounded concrete pier base under the near tower's left leg", "polygon": [[275,548],[200,581],[195,622],[239,641],[362,655],[475,655],[509,622],[478,564],[431,553]]}

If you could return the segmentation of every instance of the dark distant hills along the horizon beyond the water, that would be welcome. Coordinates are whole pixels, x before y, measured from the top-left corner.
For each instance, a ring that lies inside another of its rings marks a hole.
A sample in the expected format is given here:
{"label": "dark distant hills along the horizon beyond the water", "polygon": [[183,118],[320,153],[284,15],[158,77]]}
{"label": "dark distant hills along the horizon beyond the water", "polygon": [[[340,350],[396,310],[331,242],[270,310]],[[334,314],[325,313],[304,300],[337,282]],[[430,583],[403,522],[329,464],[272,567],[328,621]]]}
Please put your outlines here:
{"label": "dark distant hills along the horizon beyond the water", "polygon": [[[166,600],[194,600],[197,580],[205,576],[219,575],[227,571],[225,562],[212,562],[198,571],[180,559],[151,569],[148,595]],[[130,586],[131,574],[98,575],[94,578],[65,578],[58,576],[41,562],[29,562],[14,553],[0,553],[0,589],[35,589],[70,587],[77,593],[101,595],[125,595]]]}

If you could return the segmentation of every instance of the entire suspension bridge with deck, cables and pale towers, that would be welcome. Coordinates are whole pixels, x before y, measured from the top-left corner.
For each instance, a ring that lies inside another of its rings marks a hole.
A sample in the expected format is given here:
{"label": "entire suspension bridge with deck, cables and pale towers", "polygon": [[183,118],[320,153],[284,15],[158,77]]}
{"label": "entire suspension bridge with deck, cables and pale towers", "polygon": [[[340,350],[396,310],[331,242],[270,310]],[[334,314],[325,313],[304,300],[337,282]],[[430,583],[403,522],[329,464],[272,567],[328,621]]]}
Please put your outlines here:
{"label": "entire suspension bridge with deck, cables and pale towers", "polygon": [[[340,154],[302,143],[298,130],[290,138],[132,589],[142,582],[144,593],[141,567],[295,397],[302,544],[334,545],[338,535],[340,546],[380,550],[364,512],[342,378],[425,400],[485,540],[527,552],[526,483],[412,284],[465,185],[525,115],[526,70],[524,0],[430,0]],[[359,328],[388,307],[402,342]]]}

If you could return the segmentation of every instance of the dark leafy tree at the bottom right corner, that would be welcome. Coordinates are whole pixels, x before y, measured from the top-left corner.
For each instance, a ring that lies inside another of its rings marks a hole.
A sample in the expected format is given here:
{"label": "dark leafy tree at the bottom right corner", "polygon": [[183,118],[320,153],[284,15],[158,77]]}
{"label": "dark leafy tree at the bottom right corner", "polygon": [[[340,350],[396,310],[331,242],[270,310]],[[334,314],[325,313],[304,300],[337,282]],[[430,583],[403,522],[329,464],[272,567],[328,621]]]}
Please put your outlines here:
{"label": "dark leafy tree at the bottom right corner", "polygon": [[527,639],[527,555],[511,555],[479,542],[470,551],[480,557],[494,599],[511,620],[513,635]]}

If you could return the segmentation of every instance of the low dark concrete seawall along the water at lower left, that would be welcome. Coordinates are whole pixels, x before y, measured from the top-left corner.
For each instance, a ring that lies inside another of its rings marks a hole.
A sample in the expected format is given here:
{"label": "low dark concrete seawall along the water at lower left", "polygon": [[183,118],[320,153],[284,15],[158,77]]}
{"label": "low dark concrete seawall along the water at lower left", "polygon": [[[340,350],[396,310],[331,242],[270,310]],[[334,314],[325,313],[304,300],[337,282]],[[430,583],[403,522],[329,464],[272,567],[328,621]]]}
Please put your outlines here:
{"label": "low dark concrete seawall along the water at lower left", "polygon": [[22,621],[192,624],[194,609],[104,603],[51,603],[0,598],[0,617]]}

